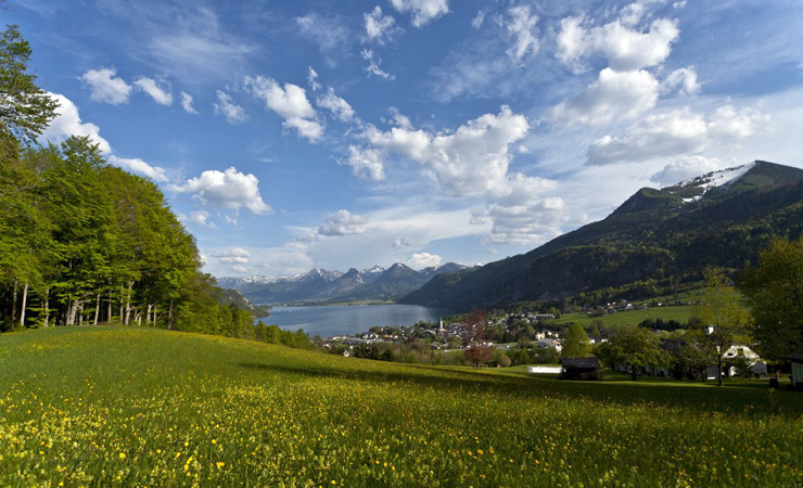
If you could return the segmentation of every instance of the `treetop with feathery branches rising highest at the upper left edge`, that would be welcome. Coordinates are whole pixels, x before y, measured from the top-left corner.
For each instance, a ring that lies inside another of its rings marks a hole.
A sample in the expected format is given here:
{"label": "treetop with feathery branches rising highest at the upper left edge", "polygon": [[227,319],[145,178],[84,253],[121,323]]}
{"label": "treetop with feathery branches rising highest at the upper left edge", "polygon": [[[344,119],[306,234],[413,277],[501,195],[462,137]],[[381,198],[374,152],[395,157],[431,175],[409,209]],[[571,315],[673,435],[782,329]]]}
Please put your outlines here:
{"label": "treetop with feathery branches rising highest at the upper left edge", "polygon": [[25,143],[42,133],[59,106],[28,73],[30,53],[17,26],[0,35],[0,131]]}

